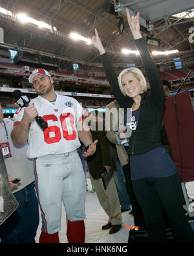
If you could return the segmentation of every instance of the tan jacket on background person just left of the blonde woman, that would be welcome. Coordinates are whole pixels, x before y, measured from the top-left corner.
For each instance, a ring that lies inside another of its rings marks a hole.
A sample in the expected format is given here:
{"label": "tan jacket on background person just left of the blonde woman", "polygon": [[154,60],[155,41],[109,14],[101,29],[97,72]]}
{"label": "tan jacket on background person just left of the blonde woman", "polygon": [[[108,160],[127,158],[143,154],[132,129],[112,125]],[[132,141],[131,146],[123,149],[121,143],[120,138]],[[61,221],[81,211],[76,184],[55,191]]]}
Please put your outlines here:
{"label": "tan jacket on background person just left of the blonde woman", "polygon": [[[116,108],[117,110],[119,109],[119,105],[116,101],[116,99],[109,103],[106,106],[107,109],[112,109],[112,108]],[[116,151],[117,151],[117,155],[118,155],[118,159],[120,160],[122,166],[124,166],[125,164],[127,164],[129,162],[129,155],[127,154],[125,147],[122,145],[118,145],[117,141],[116,141],[116,133],[113,131],[113,127],[116,126],[118,124],[118,116],[115,116],[116,119],[114,119],[114,116],[111,115],[110,116],[110,131],[107,131],[107,138],[110,142],[114,143],[116,145]],[[114,125],[115,123],[115,125]]]}

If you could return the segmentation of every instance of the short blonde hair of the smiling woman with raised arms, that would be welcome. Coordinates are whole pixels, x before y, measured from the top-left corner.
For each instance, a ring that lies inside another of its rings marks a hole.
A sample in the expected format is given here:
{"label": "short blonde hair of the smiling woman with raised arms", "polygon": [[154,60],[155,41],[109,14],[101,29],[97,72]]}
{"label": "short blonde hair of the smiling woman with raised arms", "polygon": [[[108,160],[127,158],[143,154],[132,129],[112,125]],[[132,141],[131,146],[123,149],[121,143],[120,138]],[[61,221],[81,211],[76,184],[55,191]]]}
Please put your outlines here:
{"label": "short blonde hair of the smiling woman with raised arms", "polygon": [[124,86],[122,85],[122,76],[125,75],[126,73],[132,73],[134,77],[138,79],[138,81],[141,81],[142,79],[143,80],[142,90],[143,92],[147,91],[146,78],[144,77],[144,74],[142,73],[142,71],[139,70],[138,68],[126,68],[125,70],[121,71],[120,74],[118,75],[118,84],[122,94],[126,95],[124,92]]}

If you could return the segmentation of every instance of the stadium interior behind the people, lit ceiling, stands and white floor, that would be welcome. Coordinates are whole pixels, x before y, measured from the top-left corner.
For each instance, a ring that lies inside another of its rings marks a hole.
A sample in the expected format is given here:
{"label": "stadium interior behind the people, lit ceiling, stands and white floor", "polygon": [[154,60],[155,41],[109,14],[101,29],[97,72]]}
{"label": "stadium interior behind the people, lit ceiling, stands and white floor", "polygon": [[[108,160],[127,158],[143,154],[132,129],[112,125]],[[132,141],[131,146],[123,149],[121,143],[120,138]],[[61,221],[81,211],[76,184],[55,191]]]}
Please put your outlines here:
{"label": "stadium interior behind the people, lit ceiling, stands and white floor", "polygon": [[[189,90],[194,108],[193,0],[0,0],[0,102],[5,117],[12,117],[18,108],[14,90],[30,99],[36,97],[28,82],[36,68],[50,73],[56,94],[75,97],[91,109],[111,103],[114,96],[91,44],[94,28],[117,74],[133,66],[145,73],[127,24],[126,7],[132,15],[140,11],[140,29],[160,78],[169,81],[171,94],[184,82],[181,91]],[[87,182],[92,192],[89,177]],[[129,230],[125,228],[112,237],[108,231],[102,234],[107,215],[95,193],[87,195],[86,209],[86,242],[127,242]],[[123,222],[133,225],[129,216],[124,212]],[[64,213],[64,223],[65,218]],[[65,232],[63,226],[61,242],[67,242]],[[39,233],[41,224],[36,241]]]}

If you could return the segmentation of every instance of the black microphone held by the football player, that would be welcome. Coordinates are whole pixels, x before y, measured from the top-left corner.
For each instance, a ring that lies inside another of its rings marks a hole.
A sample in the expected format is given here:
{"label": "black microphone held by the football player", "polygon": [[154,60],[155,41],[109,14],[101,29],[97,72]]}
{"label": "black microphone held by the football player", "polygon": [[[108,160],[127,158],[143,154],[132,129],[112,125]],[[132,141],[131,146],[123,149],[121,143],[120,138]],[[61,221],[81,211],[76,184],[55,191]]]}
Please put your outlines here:
{"label": "black microphone held by the football player", "polygon": [[[14,90],[12,96],[16,99],[19,107],[28,107],[30,99],[26,95],[23,95],[20,90]],[[36,116],[35,120],[41,129],[45,130],[48,127],[47,122],[41,116]]]}

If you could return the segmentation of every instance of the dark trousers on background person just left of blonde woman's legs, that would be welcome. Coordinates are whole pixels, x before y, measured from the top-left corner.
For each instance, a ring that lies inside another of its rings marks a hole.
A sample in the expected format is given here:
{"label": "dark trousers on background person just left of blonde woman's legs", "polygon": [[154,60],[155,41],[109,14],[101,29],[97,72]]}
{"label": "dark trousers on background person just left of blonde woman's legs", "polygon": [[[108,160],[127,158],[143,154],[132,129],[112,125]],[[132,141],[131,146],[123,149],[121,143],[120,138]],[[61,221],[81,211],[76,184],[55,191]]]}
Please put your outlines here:
{"label": "dark trousers on background person just left of blonde woman's legs", "polygon": [[140,205],[135,196],[135,192],[133,190],[133,186],[131,183],[131,167],[130,162],[123,166],[124,168],[124,176],[125,176],[125,185],[127,188],[127,192],[129,194],[129,198],[131,199],[131,206],[133,211],[134,223],[139,229],[146,229],[146,225],[144,222],[144,216],[142,210],[140,209]]}

